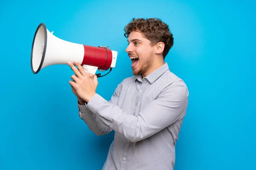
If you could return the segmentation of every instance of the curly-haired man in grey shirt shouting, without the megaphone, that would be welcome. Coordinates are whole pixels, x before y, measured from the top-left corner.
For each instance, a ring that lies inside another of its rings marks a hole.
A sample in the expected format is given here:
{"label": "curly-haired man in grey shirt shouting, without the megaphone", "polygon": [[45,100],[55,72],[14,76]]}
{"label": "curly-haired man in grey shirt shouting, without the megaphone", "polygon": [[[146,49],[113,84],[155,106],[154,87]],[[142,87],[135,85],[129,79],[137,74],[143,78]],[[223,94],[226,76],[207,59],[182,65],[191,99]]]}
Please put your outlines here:
{"label": "curly-haired man in grey shirt shouting, without the megaphone", "polygon": [[164,59],[173,45],[160,19],[133,19],[125,26],[126,52],[134,76],[124,79],[108,102],[96,93],[97,77],[68,63],[79,115],[97,135],[115,131],[104,170],[173,170],[175,144],[189,92]]}

